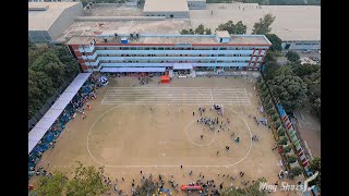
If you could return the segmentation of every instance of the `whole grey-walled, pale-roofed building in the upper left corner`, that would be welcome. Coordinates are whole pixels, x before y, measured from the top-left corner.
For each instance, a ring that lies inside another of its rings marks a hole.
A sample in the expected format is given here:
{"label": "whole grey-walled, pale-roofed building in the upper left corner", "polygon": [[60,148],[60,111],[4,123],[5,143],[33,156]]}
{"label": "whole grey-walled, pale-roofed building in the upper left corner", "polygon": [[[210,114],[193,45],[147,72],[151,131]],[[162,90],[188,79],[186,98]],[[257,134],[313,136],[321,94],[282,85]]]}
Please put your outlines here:
{"label": "whole grey-walled, pale-roofed building in the upper left corner", "polygon": [[55,42],[81,15],[81,2],[29,2],[28,39],[33,42]]}

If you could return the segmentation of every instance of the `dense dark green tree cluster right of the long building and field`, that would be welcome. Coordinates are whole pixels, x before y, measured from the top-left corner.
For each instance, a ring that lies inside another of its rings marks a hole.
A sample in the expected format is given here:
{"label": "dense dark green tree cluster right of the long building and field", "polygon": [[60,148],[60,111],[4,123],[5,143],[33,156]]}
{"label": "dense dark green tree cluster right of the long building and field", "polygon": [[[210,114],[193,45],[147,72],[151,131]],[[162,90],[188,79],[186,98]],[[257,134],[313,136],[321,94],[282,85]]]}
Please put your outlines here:
{"label": "dense dark green tree cluster right of the long building and field", "polygon": [[[274,39],[269,39],[275,45]],[[279,48],[279,47],[277,47]],[[296,51],[288,51],[288,62],[277,62],[279,51],[270,47],[264,59],[264,79],[272,93],[287,112],[310,106],[311,111],[321,117],[321,66],[320,64],[301,64]]]}

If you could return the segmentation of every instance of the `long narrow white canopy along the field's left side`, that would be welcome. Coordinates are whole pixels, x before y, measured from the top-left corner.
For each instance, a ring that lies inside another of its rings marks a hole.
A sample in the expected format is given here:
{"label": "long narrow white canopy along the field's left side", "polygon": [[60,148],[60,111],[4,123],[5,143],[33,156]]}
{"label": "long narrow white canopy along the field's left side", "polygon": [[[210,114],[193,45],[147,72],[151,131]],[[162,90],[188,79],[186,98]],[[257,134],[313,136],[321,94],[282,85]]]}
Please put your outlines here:
{"label": "long narrow white canopy along the field's left side", "polygon": [[[39,140],[44,137],[46,132],[51,127],[55,121],[59,118],[69,102],[76,95],[79,89],[87,81],[91,73],[81,73],[74,81],[65,88],[64,93],[57,99],[51,108],[45,113],[40,121],[28,133],[28,154],[35,148]],[[51,136],[50,136],[51,138]]]}

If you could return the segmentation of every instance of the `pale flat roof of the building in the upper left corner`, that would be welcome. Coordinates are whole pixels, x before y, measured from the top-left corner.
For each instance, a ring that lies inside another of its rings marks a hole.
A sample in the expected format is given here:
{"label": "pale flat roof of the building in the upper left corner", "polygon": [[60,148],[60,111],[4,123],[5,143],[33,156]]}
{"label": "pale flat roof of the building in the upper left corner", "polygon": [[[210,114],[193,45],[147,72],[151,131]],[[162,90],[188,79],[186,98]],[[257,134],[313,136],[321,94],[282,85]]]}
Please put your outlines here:
{"label": "pale flat roof of the building in the upper left corner", "polygon": [[[48,30],[65,9],[79,3],[28,2],[28,30]],[[48,9],[45,10],[44,8],[47,7]]]}

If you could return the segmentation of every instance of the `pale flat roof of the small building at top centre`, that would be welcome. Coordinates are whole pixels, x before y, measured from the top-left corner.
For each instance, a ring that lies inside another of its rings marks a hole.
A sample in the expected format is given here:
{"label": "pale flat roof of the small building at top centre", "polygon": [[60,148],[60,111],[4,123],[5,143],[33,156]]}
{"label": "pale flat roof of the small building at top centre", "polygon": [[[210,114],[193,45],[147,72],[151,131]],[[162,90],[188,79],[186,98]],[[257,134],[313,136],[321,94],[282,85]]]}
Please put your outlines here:
{"label": "pale flat roof of the small building at top centre", "polygon": [[144,12],[188,12],[186,0],[146,0]]}

